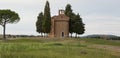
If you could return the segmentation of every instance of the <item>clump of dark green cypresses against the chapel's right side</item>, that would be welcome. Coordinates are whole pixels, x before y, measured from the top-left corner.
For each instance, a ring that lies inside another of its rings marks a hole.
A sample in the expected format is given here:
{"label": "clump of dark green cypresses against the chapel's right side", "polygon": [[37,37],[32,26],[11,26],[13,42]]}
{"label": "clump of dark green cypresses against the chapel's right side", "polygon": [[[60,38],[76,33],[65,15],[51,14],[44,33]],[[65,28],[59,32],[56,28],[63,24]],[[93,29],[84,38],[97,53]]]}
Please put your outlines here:
{"label": "clump of dark green cypresses against the chapel's right side", "polygon": [[65,8],[65,14],[70,18],[69,19],[69,32],[76,34],[83,34],[85,31],[84,23],[82,22],[82,18],[80,18],[79,14],[73,13],[71,9],[71,5],[67,4]]}

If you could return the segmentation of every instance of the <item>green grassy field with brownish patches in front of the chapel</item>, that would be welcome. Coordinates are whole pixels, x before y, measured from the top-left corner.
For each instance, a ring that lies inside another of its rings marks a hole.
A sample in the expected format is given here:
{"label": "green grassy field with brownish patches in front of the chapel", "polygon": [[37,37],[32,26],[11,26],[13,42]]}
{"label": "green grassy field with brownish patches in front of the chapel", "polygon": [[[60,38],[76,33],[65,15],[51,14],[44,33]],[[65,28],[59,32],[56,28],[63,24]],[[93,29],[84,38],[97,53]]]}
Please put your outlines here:
{"label": "green grassy field with brownish patches in front of the chapel", "polygon": [[17,38],[0,41],[0,58],[120,58],[119,48],[103,39]]}

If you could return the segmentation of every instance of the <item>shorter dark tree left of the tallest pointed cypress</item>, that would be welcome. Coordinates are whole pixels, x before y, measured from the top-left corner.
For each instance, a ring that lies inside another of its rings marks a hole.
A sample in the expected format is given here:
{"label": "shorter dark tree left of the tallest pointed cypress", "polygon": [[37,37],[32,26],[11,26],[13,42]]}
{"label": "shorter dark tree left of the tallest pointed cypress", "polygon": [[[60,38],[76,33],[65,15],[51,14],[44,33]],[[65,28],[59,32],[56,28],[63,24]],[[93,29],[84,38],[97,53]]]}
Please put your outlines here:
{"label": "shorter dark tree left of the tallest pointed cypress", "polygon": [[43,13],[41,12],[38,17],[37,17],[37,21],[36,21],[36,31],[38,33],[44,33],[43,32]]}

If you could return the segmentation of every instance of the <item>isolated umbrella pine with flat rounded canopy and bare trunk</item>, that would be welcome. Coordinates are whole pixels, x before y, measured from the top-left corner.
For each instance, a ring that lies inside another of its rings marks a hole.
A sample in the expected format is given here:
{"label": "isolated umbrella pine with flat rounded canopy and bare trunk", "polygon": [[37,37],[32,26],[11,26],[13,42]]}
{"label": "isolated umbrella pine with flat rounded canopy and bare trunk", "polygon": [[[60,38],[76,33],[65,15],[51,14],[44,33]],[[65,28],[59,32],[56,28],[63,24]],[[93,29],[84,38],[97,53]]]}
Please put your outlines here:
{"label": "isolated umbrella pine with flat rounded canopy and bare trunk", "polygon": [[6,24],[8,23],[17,23],[19,22],[20,18],[19,15],[14,12],[11,11],[9,9],[7,10],[0,10],[0,25],[3,26],[3,39],[6,39]]}

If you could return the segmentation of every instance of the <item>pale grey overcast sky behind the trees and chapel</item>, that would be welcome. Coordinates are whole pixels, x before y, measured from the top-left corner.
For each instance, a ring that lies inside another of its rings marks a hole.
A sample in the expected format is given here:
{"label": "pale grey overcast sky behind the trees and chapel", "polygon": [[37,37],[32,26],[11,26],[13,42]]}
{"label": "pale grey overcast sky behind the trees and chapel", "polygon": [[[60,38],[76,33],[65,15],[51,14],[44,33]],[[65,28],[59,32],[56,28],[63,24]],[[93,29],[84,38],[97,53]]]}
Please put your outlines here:
{"label": "pale grey overcast sky behind the trees and chapel", "polygon": [[[58,15],[59,9],[71,4],[73,12],[79,13],[85,33],[111,34],[120,36],[120,0],[48,0],[51,15]],[[16,24],[7,24],[6,33],[13,35],[39,35],[35,23],[43,12],[46,0],[0,0],[0,9],[11,9],[20,16]],[[0,34],[3,33],[0,26]]]}

